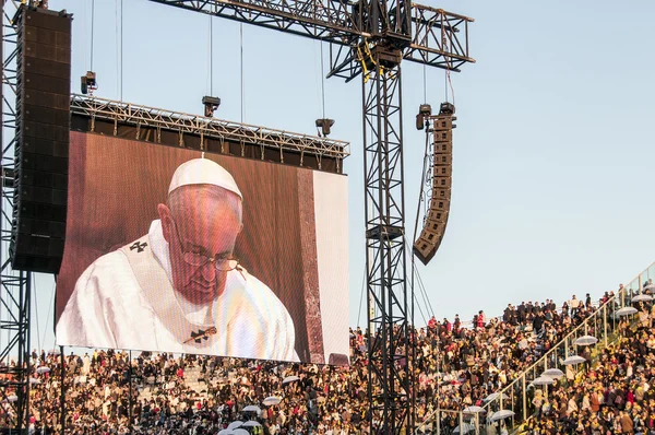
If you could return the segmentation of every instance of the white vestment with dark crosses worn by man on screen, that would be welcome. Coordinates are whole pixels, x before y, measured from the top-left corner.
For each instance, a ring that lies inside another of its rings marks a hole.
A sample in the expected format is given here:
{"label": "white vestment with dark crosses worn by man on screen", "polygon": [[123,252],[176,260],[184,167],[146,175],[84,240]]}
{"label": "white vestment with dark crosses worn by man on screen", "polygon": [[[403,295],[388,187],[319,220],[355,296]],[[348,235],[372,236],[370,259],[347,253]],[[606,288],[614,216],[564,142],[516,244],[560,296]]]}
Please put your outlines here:
{"label": "white vestment with dark crosses worn by man on screen", "polygon": [[[211,328],[215,333],[206,334]],[[182,299],[171,285],[158,220],[147,235],[82,273],[57,324],[60,345],[277,361],[298,361],[295,337],[285,306],[241,267],[227,273],[224,292],[209,306]]]}

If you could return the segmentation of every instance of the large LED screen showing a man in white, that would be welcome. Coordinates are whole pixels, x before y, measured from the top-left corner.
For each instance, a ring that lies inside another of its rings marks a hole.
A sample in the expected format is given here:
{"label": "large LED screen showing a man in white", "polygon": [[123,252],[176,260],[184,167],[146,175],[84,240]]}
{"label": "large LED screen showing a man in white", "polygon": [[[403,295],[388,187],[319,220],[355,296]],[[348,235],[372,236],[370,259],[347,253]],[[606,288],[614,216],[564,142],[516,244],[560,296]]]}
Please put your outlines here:
{"label": "large LED screen showing a man in white", "polygon": [[347,177],[72,132],[57,343],[348,355]]}

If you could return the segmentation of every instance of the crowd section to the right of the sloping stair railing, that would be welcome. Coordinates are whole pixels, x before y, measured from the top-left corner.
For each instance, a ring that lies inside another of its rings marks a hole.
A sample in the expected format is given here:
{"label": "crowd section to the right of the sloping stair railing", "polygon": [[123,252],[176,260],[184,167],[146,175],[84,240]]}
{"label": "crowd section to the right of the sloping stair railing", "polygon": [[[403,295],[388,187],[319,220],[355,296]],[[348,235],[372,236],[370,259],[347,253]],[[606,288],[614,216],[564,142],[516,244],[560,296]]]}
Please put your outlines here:
{"label": "crowd section to the right of the sloping stair railing", "polygon": [[634,307],[590,366],[534,390],[524,433],[655,434],[655,305]]}

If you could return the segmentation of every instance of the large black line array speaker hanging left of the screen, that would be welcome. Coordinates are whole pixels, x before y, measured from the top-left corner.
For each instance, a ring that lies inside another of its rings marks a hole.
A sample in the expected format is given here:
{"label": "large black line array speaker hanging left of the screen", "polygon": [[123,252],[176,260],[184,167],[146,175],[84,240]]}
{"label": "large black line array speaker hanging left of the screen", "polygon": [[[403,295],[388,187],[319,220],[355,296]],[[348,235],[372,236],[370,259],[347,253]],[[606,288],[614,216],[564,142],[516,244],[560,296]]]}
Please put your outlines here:
{"label": "large black line array speaker hanging left of the screen", "polygon": [[17,89],[10,255],[13,269],[58,273],[68,200],[72,15],[22,5],[14,20]]}

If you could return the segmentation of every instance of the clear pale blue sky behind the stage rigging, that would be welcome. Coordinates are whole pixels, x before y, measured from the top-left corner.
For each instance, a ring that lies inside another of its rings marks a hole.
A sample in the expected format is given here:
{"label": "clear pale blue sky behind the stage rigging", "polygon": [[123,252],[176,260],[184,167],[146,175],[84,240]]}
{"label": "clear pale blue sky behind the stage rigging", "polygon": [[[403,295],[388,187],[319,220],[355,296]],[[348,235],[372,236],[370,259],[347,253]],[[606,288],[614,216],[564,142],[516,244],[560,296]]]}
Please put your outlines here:
{"label": "clear pale blue sky behind the stage rigging", "polygon": [[[93,66],[96,94],[116,99],[117,3],[96,0]],[[475,19],[477,60],[453,74],[451,215],[432,263],[419,268],[434,314],[469,319],[479,309],[499,315],[510,302],[597,297],[655,260],[655,3],[426,3]],[[123,101],[201,114],[201,97],[210,93],[209,17],[145,0],[123,5]],[[91,0],[50,0],[50,8],[74,14],[72,89],[79,92],[78,78],[90,68]],[[237,121],[239,47],[239,25],[214,19],[217,117]],[[245,121],[313,133],[321,117],[319,43],[245,25],[243,57]],[[403,69],[412,230],[424,151],[424,133],[413,127],[424,99],[422,67]],[[427,74],[428,103],[437,107],[444,74]],[[355,325],[365,266],[361,85],[330,79],[325,94],[326,116],[336,119],[332,137],[353,150],[345,171]],[[52,287],[50,277],[37,279],[34,346],[53,343]]]}

